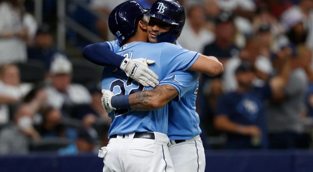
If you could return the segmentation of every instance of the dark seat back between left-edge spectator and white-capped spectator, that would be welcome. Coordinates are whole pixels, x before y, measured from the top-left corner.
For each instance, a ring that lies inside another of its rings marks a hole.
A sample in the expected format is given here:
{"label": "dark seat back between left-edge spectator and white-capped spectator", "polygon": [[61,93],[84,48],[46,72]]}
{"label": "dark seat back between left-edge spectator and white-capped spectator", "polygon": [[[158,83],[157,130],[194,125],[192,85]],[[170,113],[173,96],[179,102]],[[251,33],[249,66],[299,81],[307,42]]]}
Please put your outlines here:
{"label": "dark seat back between left-edge spectator and white-capped spectator", "polygon": [[38,60],[29,60],[26,63],[18,63],[20,69],[21,82],[40,83],[45,78],[45,65]]}

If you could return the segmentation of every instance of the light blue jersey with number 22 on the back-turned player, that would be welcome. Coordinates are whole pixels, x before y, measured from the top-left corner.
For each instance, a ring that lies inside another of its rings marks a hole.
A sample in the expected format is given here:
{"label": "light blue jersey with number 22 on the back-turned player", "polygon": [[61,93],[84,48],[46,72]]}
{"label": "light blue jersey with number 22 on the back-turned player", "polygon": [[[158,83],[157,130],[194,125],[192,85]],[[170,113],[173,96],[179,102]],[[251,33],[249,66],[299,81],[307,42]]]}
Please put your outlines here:
{"label": "light blue jersey with number 22 on the back-turned player", "polygon": [[[149,58],[155,60],[155,64],[150,65],[149,68],[161,79],[175,71],[187,70],[200,55],[200,53],[186,50],[171,43],[152,44],[144,42],[126,44],[116,53],[130,59]],[[102,89],[108,89],[115,95],[127,95],[153,88],[138,85],[120,69],[105,67],[102,74]],[[134,131],[155,131],[167,134],[168,105],[154,111],[118,109],[110,113],[109,116],[112,118],[109,136]]]}

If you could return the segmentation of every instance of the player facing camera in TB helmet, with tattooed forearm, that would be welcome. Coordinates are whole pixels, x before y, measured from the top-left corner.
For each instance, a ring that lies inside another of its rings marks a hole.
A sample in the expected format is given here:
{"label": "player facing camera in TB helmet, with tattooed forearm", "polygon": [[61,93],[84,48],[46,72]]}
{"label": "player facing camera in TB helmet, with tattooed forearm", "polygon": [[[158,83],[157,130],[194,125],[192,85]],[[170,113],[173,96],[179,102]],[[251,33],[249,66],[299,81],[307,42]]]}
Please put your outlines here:
{"label": "player facing camera in TB helmet, with tattooed forearm", "polygon": [[[148,24],[148,38],[150,42],[175,42],[171,40],[168,32],[175,33],[175,29],[164,29],[169,23],[173,21],[167,20],[163,15],[172,17],[177,14],[160,14],[163,8],[170,8],[168,1],[159,0],[156,1],[151,7],[151,10],[147,13],[151,16]],[[164,6],[164,7],[162,7]],[[175,7],[170,8],[172,11]],[[163,9],[164,10],[164,9]],[[173,17],[172,17],[173,19]],[[159,27],[161,26],[161,27]],[[163,33],[158,33],[163,28]],[[175,168],[175,171],[180,172],[193,172],[204,171],[205,169],[205,154],[203,144],[199,134],[201,129],[199,127],[199,116],[196,113],[196,97],[198,92],[198,72],[192,71],[177,71],[167,75],[159,85],[171,85],[176,91],[141,91],[129,96],[130,108],[129,110],[155,110],[162,108],[168,101],[175,97],[173,101],[169,103],[168,113],[168,133],[167,135],[171,139],[169,145],[169,151],[171,159]],[[156,87],[158,88],[158,87]],[[105,109],[115,109],[124,107],[124,104],[114,104],[116,107],[110,105],[110,97],[112,94],[103,94],[103,98],[108,100],[105,105]],[[115,98],[113,98],[115,99]],[[126,104],[127,104],[126,103]]]}

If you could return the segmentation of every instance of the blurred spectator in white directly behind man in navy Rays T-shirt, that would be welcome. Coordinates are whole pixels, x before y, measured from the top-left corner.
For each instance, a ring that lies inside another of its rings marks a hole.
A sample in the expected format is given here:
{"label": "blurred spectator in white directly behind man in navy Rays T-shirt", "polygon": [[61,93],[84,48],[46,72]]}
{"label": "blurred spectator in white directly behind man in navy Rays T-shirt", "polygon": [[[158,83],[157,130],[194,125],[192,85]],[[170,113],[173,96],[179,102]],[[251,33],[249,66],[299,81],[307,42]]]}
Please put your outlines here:
{"label": "blurred spectator in white directly behind man in navy Rays T-shirt", "polygon": [[[224,65],[223,73],[223,87],[225,92],[235,91],[237,89],[237,80],[235,77],[236,68],[243,61],[248,61],[253,65],[257,77],[262,80],[267,80],[269,74],[272,72],[272,64],[269,58],[260,56],[261,44],[258,38],[248,38],[246,46],[240,52],[239,57],[233,57]],[[262,84],[262,80],[254,78],[254,84]]]}

